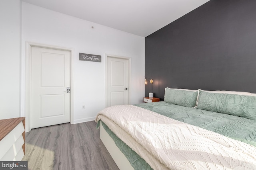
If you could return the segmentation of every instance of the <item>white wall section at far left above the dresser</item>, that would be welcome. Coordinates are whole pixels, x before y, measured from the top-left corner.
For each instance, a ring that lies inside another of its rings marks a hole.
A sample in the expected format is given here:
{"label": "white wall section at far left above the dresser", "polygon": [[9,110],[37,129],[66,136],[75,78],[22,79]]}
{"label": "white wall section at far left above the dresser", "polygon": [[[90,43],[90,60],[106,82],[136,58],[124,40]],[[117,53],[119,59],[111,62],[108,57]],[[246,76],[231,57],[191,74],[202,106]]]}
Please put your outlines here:
{"label": "white wall section at far left above the dresser", "polygon": [[0,0],[0,119],[20,117],[20,0]]}

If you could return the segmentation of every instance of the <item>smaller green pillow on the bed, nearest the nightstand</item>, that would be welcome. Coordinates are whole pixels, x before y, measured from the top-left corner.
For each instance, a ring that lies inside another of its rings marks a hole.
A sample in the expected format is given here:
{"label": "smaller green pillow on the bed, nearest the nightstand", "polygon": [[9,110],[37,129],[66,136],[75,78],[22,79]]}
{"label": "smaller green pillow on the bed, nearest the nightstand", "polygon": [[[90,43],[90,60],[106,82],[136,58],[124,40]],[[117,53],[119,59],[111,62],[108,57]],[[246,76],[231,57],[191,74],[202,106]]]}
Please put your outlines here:
{"label": "smaller green pillow on the bed, nearest the nightstand", "polygon": [[185,107],[195,107],[198,92],[166,88],[164,102]]}

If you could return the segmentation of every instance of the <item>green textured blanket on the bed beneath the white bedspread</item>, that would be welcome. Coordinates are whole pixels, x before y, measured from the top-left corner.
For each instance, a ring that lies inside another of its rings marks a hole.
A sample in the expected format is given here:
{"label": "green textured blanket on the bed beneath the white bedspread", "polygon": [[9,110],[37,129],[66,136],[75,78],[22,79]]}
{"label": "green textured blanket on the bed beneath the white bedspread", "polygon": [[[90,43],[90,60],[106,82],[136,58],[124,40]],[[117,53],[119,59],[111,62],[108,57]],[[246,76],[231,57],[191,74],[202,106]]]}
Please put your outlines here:
{"label": "green textured blanket on the bed beneath the white bedspread", "polygon": [[[226,137],[230,137],[232,139],[236,139],[256,147],[255,120],[237,117],[234,115],[195,109],[192,107],[168,104],[166,102],[136,104],[135,106],[154,111],[161,115],[165,115],[172,119],[195,125],[203,129],[214,131]],[[112,133],[112,131],[104,123],[102,123],[102,125],[110,137],[112,137],[117,147],[121,150],[122,153],[124,153],[135,170],[152,169],[145,162],[145,160],[140,158],[136,152],[134,152],[123,141],[116,137],[116,135]]]}

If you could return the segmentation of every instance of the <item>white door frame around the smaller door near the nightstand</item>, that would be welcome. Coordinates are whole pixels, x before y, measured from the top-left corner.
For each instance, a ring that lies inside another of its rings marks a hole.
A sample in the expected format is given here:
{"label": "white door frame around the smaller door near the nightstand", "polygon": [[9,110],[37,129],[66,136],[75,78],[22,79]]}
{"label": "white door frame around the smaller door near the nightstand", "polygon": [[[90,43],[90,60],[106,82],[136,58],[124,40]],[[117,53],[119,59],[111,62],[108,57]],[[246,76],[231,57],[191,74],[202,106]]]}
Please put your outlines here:
{"label": "white door frame around the smaller door near the nightstand", "polygon": [[107,107],[107,79],[108,79],[108,57],[111,58],[116,58],[116,59],[125,59],[128,61],[128,104],[131,104],[131,93],[132,93],[132,86],[131,86],[131,58],[130,57],[123,57],[123,56],[118,56],[118,55],[110,55],[110,54],[105,54],[105,108]]}

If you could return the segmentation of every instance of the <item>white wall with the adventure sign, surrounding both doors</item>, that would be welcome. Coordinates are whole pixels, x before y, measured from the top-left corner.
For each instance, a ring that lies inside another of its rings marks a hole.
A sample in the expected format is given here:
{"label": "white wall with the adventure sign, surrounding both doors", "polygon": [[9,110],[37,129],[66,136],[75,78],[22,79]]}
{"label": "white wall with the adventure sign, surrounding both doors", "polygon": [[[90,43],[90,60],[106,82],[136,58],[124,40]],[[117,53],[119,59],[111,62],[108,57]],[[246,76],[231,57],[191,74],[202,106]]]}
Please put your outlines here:
{"label": "white wall with the adventure sign, surrounding both doors", "polygon": [[[92,14],[93,15],[93,14]],[[94,29],[92,29],[94,26]],[[144,37],[22,2],[22,115],[26,41],[74,50],[74,122],[90,121],[105,107],[105,55],[131,57],[132,104],[144,97]],[[102,56],[102,63],[79,61],[79,53]],[[86,109],[82,109],[82,105]]]}

